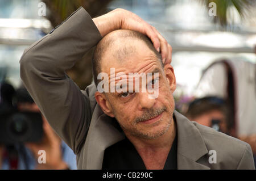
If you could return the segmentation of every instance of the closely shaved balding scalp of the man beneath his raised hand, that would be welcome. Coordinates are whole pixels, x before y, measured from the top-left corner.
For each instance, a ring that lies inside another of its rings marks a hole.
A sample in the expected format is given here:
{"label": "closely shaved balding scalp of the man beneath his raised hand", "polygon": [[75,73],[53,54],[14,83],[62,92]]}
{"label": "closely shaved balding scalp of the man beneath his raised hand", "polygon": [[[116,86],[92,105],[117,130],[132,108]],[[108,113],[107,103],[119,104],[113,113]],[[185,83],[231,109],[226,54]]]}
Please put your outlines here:
{"label": "closely shaved balding scalp of the man beneath his raised hand", "polygon": [[[126,61],[129,56],[138,53],[138,41],[142,41],[150,51],[155,54],[162,64],[162,57],[154,48],[154,45],[142,33],[131,30],[117,30],[109,33],[97,44],[93,54],[93,77],[96,86],[100,80],[97,80],[97,75],[101,72],[101,65],[103,61],[110,61],[104,57],[112,57],[115,61]],[[141,45],[141,44],[139,44]]]}

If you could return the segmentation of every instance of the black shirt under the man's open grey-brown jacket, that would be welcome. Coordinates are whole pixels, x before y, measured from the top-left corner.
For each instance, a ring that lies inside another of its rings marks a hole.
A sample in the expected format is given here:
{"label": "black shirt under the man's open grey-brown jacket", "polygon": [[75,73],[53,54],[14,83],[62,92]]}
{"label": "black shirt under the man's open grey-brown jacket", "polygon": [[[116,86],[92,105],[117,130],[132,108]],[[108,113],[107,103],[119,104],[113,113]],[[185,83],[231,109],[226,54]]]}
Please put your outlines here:
{"label": "black shirt under the man's open grey-brown jacket", "polygon": [[[146,170],[146,167],[134,145],[126,137],[125,140],[119,141],[105,150],[102,169]],[[163,169],[177,170],[177,134]]]}

